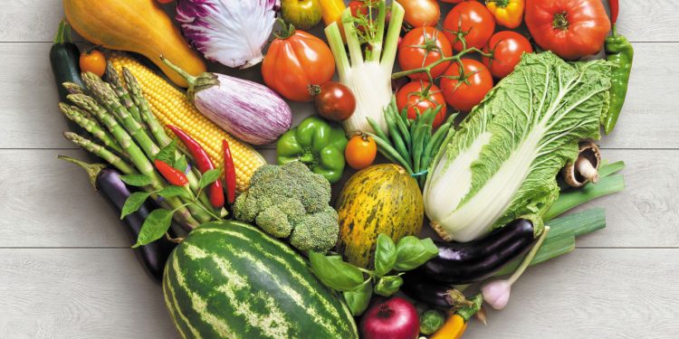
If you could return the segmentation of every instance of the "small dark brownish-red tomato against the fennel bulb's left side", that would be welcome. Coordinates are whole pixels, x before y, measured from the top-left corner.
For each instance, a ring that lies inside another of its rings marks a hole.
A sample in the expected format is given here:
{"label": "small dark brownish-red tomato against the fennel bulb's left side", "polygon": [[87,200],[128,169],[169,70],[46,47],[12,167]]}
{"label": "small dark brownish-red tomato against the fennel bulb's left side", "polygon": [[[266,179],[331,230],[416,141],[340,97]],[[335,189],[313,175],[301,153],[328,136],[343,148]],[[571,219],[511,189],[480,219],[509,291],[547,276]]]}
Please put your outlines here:
{"label": "small dark brownish-red tomato against the fennel bulb's left side", "polygon": [[332,121],[344,121],[356,110],[356,98],[349,87],[339,82],[328,81],[313,86],[313,101],[320,117]]}

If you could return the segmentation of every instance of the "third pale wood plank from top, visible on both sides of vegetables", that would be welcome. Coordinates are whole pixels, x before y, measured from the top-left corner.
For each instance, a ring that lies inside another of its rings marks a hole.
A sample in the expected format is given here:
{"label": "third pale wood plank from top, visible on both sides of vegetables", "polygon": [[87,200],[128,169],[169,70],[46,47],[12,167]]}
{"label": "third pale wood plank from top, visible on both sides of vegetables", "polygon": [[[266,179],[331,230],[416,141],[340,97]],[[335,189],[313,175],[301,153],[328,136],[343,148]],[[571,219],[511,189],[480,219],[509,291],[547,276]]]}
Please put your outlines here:
{"label": "third pale wood plank from top, visible on both sides of vegetables", "polygon": [[[0,247],[129,246],[115,213],[91,190],[84,172],[56,160],[59,154],[83,156],[72,150],[0,150],[0,224],[6,225]],[[275,151],[263,155],[273,162]],[[606,207],[607,229],[582,237],[578,246],[679,247],[679,150],[605,150],[604,157],[626,161],[626,191],[583,206]],[[340,189],[333,186],[334,193]]]}

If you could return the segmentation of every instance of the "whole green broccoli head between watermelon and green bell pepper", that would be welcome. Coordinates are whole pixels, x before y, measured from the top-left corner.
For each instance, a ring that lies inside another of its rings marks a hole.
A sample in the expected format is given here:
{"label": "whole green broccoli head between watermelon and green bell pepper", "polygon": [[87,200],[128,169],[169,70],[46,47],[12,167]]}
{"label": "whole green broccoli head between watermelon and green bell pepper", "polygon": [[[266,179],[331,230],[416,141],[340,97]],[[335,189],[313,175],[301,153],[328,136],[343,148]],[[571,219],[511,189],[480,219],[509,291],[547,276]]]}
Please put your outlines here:
{"label": "whole green broccoli head between watermelon and green bell pepper", "polygon": [[330,250],[337,242],[337,212],[329,206],[330,183],[301,162],[263,165],[234,202],[234,218],[255,222],[298,250]]}

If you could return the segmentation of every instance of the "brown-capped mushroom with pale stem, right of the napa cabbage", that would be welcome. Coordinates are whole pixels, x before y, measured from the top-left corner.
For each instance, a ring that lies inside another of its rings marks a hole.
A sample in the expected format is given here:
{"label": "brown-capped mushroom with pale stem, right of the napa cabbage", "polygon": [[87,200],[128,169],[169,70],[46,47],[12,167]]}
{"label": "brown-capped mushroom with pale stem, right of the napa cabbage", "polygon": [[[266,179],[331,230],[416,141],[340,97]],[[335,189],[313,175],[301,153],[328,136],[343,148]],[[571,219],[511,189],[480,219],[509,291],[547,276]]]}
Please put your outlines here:
{"label": "brown-capped mushroom with pale stem, right of the napa cabbage", "polygon": [[570,187],[582,187],[588,182],[598,182],[598,167],[601,154],[598,146],[591,140],[580,142],[578,158],[563,167],[563,178]]}

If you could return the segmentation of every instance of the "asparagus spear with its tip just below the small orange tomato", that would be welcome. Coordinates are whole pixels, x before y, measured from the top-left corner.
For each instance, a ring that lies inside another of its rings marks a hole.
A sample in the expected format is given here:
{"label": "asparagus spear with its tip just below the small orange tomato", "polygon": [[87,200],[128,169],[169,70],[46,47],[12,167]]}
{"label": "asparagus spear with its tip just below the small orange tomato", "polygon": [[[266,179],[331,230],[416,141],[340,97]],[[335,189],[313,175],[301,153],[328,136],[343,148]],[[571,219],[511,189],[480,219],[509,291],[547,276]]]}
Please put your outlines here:
{"label": "asparagus spear with its tip just below the small orange tomato", "polygon": [[128,130],[129,135],[134,137],[135,141],[139,143],[139,146],[141,146],[149,158],[154,158],[158,155],[158,152],[160,152],[158,145],[148,137],[144,128],[132,117],[128,109],[120,104],[115,91],[106,82],[91,72],[83,73],[82,81],[87,89],[91,91],[94,98],[116,118],[120,119],[125,129]]}

